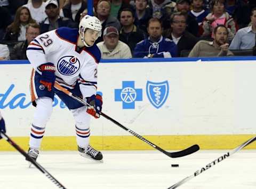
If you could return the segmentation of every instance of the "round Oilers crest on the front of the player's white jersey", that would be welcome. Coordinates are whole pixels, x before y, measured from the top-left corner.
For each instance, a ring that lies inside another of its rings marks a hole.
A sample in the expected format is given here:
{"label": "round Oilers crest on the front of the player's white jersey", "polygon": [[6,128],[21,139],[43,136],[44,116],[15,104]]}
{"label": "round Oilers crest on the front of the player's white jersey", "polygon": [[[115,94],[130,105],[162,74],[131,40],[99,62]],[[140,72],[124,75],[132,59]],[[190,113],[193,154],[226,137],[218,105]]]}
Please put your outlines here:
{"label": "round Oilers crest on the front of the player's white jersey", "polygon": [[80,66],[80,61],[75,56],[63,56],[59,59],[57,64],[58,71],[63,75],[75,74]]}

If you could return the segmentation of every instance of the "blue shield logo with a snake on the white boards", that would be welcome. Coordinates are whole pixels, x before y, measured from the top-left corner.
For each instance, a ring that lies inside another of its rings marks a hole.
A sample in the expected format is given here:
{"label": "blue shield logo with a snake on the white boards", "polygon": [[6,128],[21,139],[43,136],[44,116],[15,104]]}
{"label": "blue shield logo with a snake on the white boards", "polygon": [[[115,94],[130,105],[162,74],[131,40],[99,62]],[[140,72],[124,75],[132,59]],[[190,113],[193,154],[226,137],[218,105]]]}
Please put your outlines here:
{"label": "blue shield logo with a snake on the white boards", "polygon": [[159,83],[147,81],[147,96],[149,101],[156,108],[163,106],[169,94],[169,84],[168,81],[163,81]]}

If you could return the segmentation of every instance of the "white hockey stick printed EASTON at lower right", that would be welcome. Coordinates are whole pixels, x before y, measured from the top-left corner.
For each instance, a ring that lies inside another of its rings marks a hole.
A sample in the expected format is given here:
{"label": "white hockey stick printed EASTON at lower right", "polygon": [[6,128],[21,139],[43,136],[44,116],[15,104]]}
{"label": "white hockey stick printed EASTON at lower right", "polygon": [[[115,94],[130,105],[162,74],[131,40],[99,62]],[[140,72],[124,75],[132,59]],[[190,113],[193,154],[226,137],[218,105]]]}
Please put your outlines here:
{"label": "white hockey stick printed EASTON at lower right", "polygon": [[252,142],[254,142],[256,140],[256,136],[254,136],[253,138],[247,140],[246,142],[244,142],[243,144],[239,145],[237,148],[235,148],[234,150],[227,152],[225,154],[223,154],[221,157],[215,159],[214,161],[210,162],[209,164],[207,164],[205,167],[202,167],[201,169],[195,171],[194,174],[187,176],[186,178],[182,179],[180,182],[172,185],[171,187],[167,188],[167,189],[174,189],[179,187],[180,185],[186,183],[187,181],[189,181],[190,179],[196,177],[197,175],[203,173],[205,170],[213,167],[214,165],[218,164],[220,161],[228,158],[229,156],[231,156],[232,154],[236,153],[237,151],[243,149],[244,147],[246,147],[246,145],[251,144]]}

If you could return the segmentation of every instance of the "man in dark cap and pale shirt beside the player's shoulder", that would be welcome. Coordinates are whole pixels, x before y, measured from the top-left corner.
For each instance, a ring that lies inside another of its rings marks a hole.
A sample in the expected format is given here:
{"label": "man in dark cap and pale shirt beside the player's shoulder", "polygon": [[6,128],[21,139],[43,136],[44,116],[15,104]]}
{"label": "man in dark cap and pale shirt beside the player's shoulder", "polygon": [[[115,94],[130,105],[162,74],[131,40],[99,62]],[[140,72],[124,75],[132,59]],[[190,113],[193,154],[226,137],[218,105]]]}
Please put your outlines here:
{"label": "man in dark cap and pale shirt beside the player's shoulder", "polygon": [[101,51],[101,58],[131,58],[131,50],[124,42],[119,41],[118,30],[107,27],[103,31],[104,41],[97,44]]}

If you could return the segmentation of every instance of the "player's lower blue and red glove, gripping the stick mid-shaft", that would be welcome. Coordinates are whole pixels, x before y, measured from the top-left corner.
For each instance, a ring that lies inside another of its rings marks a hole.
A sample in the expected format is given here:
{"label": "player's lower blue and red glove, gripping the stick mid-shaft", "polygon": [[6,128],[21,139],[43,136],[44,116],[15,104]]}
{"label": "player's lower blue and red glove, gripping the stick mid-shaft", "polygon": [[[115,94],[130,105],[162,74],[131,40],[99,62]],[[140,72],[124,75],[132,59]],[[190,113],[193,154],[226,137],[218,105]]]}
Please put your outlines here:
{"label": "player's lower blue and red glove, gripping the stick mid-shaft", "polygon": [[86,112],[95,118],[99,118],[102,109],[102,97],[100,95],[92,95],[87,98],[87,103],[91,106],[87,107]]}

